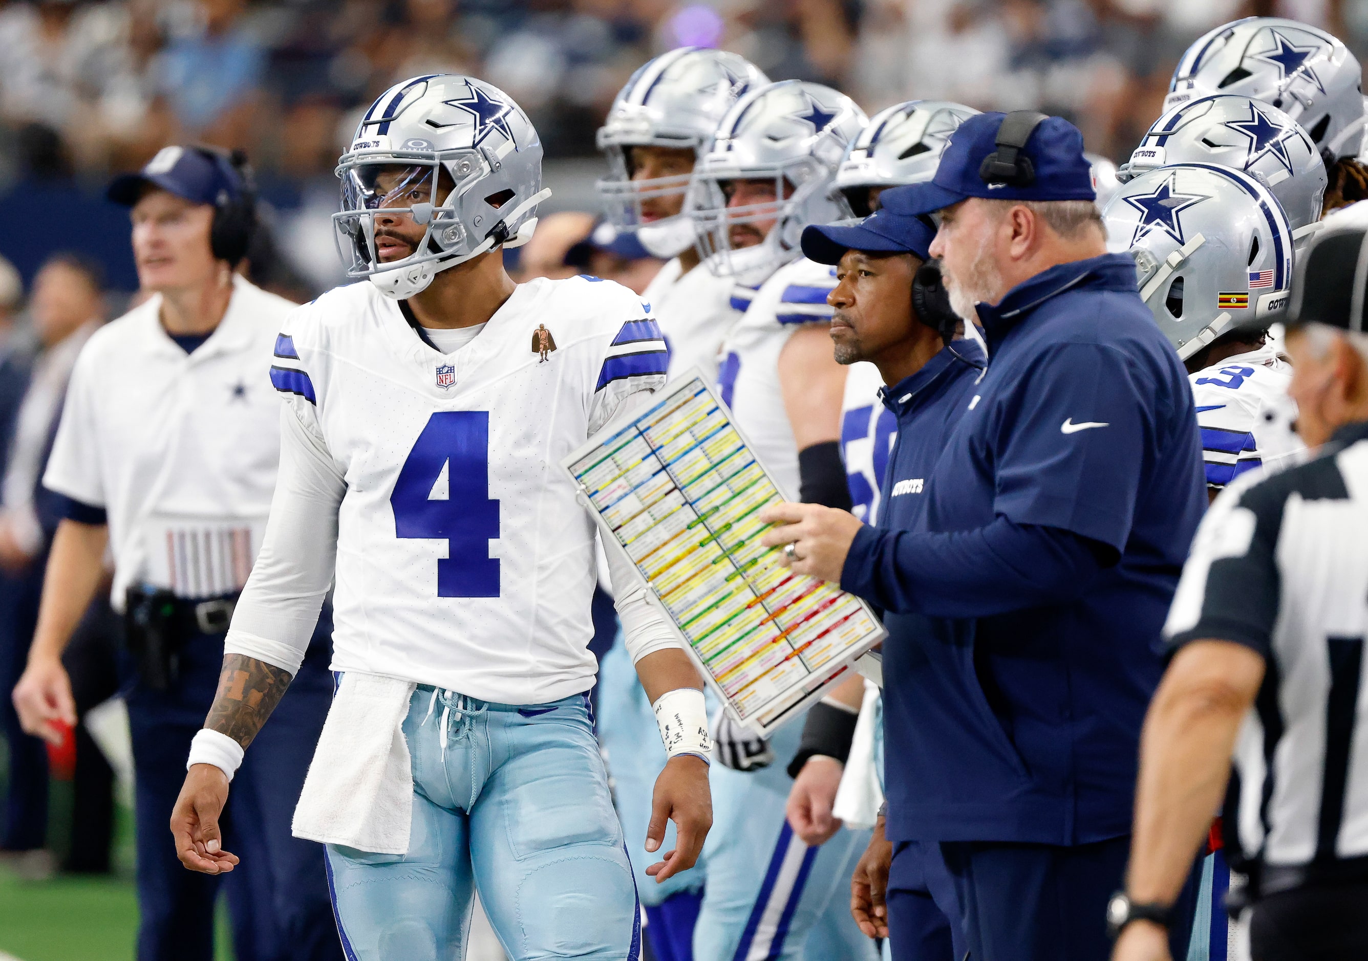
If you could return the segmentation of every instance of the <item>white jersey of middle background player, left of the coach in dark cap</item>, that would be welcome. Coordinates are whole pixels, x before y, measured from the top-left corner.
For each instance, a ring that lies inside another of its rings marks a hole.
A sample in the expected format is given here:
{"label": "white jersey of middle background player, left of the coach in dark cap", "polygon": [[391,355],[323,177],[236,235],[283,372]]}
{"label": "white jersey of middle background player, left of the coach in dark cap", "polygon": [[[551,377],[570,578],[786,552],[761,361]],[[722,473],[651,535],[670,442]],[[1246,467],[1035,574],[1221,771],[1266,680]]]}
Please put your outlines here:
{"label": "white jersey of middle background player, left of the coach in dark cap", "polygon": [[722,342],[717,375],[722,401],[761,463],[792,500],[799,487],[798,446],[780,391],[778,355],[803,324],[830,321],[826,295],[834,287],[834,267],[806,257],[787,264],[761,284]]}

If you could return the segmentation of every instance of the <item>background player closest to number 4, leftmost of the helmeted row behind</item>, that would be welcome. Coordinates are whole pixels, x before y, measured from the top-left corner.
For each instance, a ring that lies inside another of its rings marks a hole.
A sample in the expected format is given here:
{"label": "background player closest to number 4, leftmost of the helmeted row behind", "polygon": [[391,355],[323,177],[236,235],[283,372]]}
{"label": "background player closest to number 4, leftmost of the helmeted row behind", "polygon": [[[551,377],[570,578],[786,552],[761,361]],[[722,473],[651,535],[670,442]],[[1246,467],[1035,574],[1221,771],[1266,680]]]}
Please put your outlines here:
{"label": "background player closest to number 4, leftmost of the helmeted row behind", "polygon": [[[732,308],[735,280],[700,264],[694,220],[684,211],[694,165],[718,122],[747,90],[769,79],[746,59],[722,51],[681,48],[637,70],[617,94],[598,144],[609,176],[599,180],[609,220],[633,231],[642,245],[669,258],[642,295],[670,349],[669,376],[695,366],[717,379],[717,350],[741,313]],[[692,957],[694,919],[702,899],[705,864],[661,884],[646,876],[654,858],[642,848],[655,776],[666,755],[651,733],[651,704],[622,644],[599,664],[598,733],[611,774],[613,796],[628,854],[646,906],[646,935],[661,961]],[[666,845],[670,838],[666,837]]]}

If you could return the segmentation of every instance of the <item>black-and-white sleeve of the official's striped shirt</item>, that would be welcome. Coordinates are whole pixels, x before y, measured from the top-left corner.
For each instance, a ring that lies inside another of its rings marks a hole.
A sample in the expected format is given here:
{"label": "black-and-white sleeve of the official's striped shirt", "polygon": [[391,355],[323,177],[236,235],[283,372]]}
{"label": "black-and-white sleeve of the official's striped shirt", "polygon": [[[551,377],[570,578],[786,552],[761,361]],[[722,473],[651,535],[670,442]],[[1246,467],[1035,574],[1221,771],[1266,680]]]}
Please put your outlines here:
{"label": "black-and-white sleeve of the official's striped shirt", "polygon": [[1289,488],[1279,477],[1253,481],[1227,487],[1197,528],[1164,623],[1170,651],[1216,640],[1272,655],[1282,595],[1276,550]]}

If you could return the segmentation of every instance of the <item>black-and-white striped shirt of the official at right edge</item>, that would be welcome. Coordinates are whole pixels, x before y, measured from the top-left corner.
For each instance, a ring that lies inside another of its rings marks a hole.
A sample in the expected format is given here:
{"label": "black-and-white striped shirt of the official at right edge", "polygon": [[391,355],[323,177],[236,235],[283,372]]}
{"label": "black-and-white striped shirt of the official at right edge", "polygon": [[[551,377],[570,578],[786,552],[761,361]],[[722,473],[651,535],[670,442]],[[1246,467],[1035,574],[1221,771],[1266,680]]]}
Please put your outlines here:
{"label": "black-and-white striped shirt of the official at right edge", "polygon": [[1244,644],[1267,666],[1235,741],[1224,819],[1235,860],[1298,879],[1283,887],[1321,869],[1368,876],[1368,424],[1226,489],[1164,634],[1174,649]]}

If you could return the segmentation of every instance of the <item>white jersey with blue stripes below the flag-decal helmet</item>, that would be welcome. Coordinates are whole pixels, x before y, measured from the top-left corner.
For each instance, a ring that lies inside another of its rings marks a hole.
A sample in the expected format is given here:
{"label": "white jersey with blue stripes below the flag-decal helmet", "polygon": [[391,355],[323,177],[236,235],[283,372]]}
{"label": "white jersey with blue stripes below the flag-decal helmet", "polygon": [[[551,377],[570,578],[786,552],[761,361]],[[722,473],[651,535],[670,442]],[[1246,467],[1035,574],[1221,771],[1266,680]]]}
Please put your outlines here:
{"label": "white jersey with blue stripes below the flag-decal helmet", "polygon": [[1224,487],[1259,466],[1276,468],[1306,448],[1293,431],[1291,365],[1274,342],[1227,357],[1189,380],[1208,485]]}

